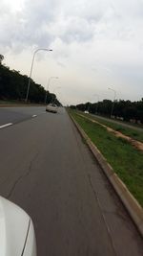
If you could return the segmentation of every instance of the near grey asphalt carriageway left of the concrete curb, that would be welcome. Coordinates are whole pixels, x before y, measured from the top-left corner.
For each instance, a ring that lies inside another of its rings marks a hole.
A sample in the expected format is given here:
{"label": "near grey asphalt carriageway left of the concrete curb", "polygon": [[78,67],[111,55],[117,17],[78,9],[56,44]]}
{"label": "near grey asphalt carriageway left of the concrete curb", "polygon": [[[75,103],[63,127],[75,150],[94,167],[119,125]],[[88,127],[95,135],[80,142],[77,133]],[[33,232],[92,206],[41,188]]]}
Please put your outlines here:
{"label": "near grey asphalt carriageway left of the concrete curb", "polygon": [[31,215],[38,256],[143,255],[133,221],[64,108],[3,108],[0,119],[13,124],[0,129],[0,195]]}

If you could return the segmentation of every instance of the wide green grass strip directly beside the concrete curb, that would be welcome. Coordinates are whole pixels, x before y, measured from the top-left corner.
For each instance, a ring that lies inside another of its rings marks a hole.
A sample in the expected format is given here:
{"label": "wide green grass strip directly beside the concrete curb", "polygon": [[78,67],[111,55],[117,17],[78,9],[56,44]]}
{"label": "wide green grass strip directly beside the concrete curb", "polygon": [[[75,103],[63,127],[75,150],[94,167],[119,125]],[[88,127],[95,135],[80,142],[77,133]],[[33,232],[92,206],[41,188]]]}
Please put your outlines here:
{"label": "wide green grass strip directly beside the concrete curb", "polygon": [[135,150],[126,140],[116,138],[106,128],[93,124],[76,112],[72,111],[71,114],[143,206],[143,152]]}

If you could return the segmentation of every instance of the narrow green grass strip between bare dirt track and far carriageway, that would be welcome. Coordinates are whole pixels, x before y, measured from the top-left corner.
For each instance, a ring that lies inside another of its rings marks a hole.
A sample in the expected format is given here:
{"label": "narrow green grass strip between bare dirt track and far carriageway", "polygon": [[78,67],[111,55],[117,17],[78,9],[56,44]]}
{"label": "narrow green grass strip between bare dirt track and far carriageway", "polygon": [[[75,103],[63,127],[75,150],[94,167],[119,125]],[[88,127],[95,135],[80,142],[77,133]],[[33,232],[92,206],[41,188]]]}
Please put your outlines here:
{"label": "narrow green grass strip between bare dirt track and far carriageway", "polygon": [[127,136],[133,138],[134,140],[143,142],[143,131],[136,130],[135,128],[134,129],[126,128],[126,127],[123,127],[122,124],[118,125],[118,124],[112,123],[112,121],[110,122],[110,121],[102,120],[101,118],[93,117],[92,115],[87,115],[87,116],[92,118],[93,120],[98,121],[99,123],[101,123],[109,128],[113,128],[114,130],[119,131],[119,132],[123,133],[124,135],[127,135]]}

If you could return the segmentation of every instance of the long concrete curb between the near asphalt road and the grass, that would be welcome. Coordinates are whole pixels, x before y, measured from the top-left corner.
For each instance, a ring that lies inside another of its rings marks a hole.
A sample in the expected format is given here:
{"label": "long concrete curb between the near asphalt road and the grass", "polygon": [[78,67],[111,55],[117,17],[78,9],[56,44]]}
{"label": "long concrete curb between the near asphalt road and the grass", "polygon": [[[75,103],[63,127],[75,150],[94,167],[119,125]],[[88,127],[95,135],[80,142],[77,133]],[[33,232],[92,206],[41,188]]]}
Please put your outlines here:
{"label": "long concrete curb between the near asphalt road and the grass", "polygon": [[112,187],[114,188],[118,197],[122,200],[130,216],[132,217],[133,222],[135,223],[138,231],[143,237],[143,208],[140,206],[137,200],[133,198],[133,195],[130,193],[130,191],[122,182],[122,180],[118,177],[118,175],[114,173],[111,165],[107,162],[106,158],[102,155],[102,153],[98,151],[98,149],[92,143],[92,140],[88,137],[85,131],[82,128],[80,128],[80,126],[76,123],[76,121],[72,118],[71,115],[70,117],[72,119],[73,124],[81,134],[81,136],[86,140],[98,164],[104,171],[105,175],[107,175],[107,177],[109,178],[110,182],[112,183]]}

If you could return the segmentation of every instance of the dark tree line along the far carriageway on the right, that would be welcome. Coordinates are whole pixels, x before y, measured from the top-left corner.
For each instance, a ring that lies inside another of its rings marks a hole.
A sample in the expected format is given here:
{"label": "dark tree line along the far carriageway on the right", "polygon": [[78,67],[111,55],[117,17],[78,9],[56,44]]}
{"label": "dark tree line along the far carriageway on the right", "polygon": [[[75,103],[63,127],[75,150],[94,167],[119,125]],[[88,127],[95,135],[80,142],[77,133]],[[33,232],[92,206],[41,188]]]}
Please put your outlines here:
{"label": "dark tree line along the far carriageway on the right", "polygon": [[143,124],[143,98],[137,102],[119,100],[112,103],[110,100],[103,100],[94,104],[86,103],[71,105],[71,107],[103,116],[111,116],[112,113],[113,118]]}

